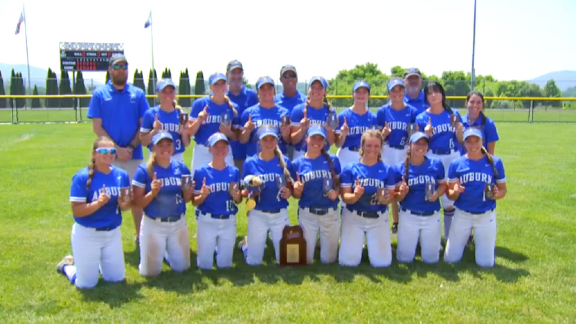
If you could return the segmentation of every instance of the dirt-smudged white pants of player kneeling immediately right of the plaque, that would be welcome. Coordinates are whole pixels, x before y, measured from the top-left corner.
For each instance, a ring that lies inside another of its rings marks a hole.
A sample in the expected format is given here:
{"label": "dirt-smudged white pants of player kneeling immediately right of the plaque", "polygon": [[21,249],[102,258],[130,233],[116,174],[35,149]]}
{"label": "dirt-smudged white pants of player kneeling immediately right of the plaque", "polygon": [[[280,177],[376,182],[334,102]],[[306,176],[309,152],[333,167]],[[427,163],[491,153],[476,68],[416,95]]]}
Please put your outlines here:
{"label": "dirt-smudged white pants of player kneeling immediately right of the plaque", "polygon": [[316,238],[320,233],[320,262],[334,263],[338,257],[338,236],[340,235],[340,217],[338,209],[329,209],[324,215],[310,213],[308,208],[298,209],[298,224],[306,240],[306,262],[312,263]]}

